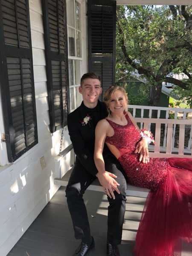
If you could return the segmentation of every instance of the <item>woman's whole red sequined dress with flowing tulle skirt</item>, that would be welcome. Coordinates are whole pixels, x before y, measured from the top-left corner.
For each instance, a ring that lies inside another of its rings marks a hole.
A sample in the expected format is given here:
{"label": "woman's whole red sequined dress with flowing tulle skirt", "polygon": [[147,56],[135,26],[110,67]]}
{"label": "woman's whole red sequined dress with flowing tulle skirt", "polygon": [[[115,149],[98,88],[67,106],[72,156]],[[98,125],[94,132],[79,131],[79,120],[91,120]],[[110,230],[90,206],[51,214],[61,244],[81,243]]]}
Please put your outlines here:
{"label": "woman's whole red sequined dress with flowing tulle skirt", "polygon": [[119,162],[128,183],[151,189],[136,236],[136,256],[181,255],[181,239],[192,242],[192,159],[150,158],[139,162],[134,154],[140,140],[128,114],[127,125],[107,121],[114,130],[106,142],[120,152]]}

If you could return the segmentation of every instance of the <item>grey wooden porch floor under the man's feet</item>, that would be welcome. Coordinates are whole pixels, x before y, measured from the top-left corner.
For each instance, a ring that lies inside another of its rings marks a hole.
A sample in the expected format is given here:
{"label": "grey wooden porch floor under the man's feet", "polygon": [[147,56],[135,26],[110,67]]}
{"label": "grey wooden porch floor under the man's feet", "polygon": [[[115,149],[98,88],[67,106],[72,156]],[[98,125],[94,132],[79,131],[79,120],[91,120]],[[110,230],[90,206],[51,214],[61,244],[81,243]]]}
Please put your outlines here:
{"label": "grey wooden porch floor under the man's feet", "polygon": [[[131,253],[145,198],[127,197],[122,256]],[[84,195],[96,248],[90,256],[105,256],[108,201],[102,192],[87,190]],[[8,256],[73,256],[79,241],[73,237],[72,221],[67,208],[65,188],[61,187],[38,215]],[[192,255],[192,244],[183,244],[182,256]]]}

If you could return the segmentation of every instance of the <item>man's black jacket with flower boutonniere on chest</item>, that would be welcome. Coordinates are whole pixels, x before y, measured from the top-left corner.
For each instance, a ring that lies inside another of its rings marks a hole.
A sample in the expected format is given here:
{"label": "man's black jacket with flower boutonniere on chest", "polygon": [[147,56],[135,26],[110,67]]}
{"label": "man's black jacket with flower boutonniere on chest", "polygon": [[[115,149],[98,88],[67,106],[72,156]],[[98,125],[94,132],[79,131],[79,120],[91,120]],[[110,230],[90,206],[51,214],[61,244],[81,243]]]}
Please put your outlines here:
{"label": "man's black jacket with flower boutonniere on chest", "polygon": [[[82,121],[87,114],[91,117],[86,125]],[[70,140],[76,154],[76,163],[80,162],[84,169],[95,176],[98,172],[93,160],[95,145],[95,127],[99,120],[108,115],[106,106],[98,101],[96,108],[89,109],[84,103],[67,116]],[[109,151],[105,148],[105,151]]]}

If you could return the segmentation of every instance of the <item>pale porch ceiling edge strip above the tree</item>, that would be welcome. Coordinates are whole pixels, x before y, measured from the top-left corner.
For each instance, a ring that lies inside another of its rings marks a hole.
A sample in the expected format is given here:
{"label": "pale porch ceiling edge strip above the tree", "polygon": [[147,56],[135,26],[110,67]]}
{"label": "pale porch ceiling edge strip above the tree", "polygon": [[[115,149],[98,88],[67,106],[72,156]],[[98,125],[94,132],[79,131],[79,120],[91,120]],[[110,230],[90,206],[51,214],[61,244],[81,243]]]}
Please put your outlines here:
{"label": "pale porch ceiling edge strip above the tree", "polygon": [[192,0],[116,0],[116,3],[126,5],[191,5]]}

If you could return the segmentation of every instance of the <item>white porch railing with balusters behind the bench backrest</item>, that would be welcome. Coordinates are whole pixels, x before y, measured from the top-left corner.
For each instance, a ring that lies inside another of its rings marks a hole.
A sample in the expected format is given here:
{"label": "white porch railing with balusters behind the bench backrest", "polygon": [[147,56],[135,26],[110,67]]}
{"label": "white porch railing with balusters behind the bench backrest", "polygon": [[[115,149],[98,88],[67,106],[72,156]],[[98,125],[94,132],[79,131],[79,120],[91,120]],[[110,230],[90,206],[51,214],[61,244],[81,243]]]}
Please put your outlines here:
{"label": "white porch railing with balusters behind the bench backrest", "polygon": [[[148,114],[147,118],[151,118],[152,116],[152,111],[157,111],[157,119],[160,118],[160,116],[162,114],[164,114],[165,118],[168,119],[169,118],[169,114],[172,114],[174,119],[177,120],[177,118],[179,119],[186,119],[187,114],[191,115],[192,118],[192,109],[186,109],[186,108],[164,108],[164,107],[151,107],[151,106],[140,106],[140,105],[128,105],[128,109],[132,109],[133,110],[133,116],[136,116],[136,110],[139,109],[140,111],[140,116],[137,117],[141,117],[143,118],[144,114],[146,116],[146,114]],[[148,110],[148,113],[146,113],[145,110]],[[145,111],[145,113],[144,113]],[[177,123],[173,123],[173,132],[172,132],[172,149],[173,151],[177,152],[178,148],[175,147],[175,131],[176,131],[176,124]],[[141,122],[140,124],[140,128],[143,126],[143,122]],[[184,148],[184,151],[187,153],[191,151],[191,146],[192,146],[192,119],[191,122],[189,122],[189,124],[187,124],[188,129],[188,143],[186,145],[186,147]],[[149,131],[151,131],[151,123],[148,124],[148,128]],[[163,145],[162,145],[162,149],[166,148],[166,136],[167,134],[167,123],[165,122],[165,129],[164,129],[164,135],[163,135]],[[153,146],[150,145],[150,148],[153,148]]]}

